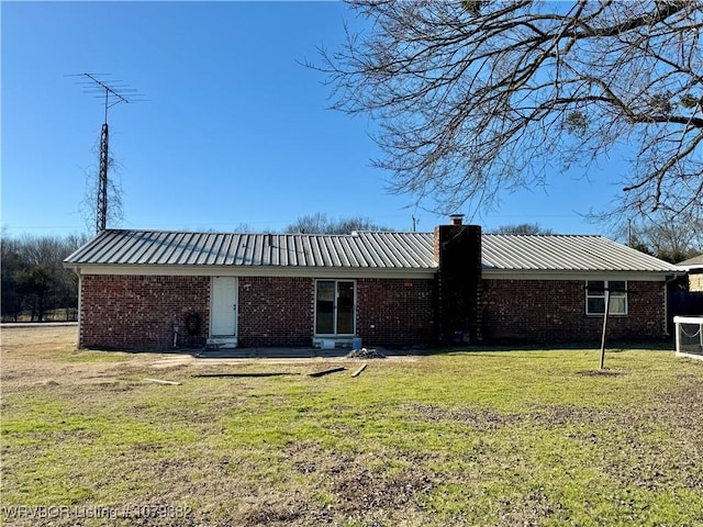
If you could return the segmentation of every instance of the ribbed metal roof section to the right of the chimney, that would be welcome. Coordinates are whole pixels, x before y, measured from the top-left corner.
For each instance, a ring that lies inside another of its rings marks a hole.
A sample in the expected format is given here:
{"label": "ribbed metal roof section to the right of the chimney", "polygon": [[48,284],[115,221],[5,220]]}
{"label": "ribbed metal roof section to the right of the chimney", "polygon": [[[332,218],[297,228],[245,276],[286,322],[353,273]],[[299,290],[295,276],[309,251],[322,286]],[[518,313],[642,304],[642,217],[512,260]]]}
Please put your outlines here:
{"label": "ribbed metal roof section to the right of the chimney", "polygon": [[483,269],[677,272],[676,266],[603,236],[482,236]]}

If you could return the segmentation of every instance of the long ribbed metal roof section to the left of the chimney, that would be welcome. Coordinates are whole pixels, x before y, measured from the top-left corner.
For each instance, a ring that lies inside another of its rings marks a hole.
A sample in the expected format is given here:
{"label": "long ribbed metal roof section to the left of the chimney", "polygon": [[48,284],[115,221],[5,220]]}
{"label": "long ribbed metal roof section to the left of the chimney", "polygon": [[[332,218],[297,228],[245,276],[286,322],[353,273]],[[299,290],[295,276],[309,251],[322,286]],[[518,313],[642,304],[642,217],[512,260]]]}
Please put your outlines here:
{"label": "long ribbed metal roof section to the left of the chimney", "polygon": [[232,234],[104,231],[68,265],[433,269],[432,234]]}

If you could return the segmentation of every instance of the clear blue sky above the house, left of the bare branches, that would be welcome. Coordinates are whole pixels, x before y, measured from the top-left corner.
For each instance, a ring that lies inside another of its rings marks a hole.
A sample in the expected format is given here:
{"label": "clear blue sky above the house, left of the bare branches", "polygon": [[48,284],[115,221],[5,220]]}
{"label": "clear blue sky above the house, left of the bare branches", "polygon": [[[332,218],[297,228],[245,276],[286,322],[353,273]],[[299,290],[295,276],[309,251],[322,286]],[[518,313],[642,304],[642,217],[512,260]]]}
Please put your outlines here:
{"label": "clear blue sky above the house, left of the bare branches", "polygon": [[[5,233],[91,232],[80,203],[97,169],[102,103],[68,74],[111,74],[149,102],[109,112],[124,228],[282,229],[304,214],[365,216],[399,231],[445,223],[388,192],[373,124],[327,110],[324,77],[301,66],[334,49],[338,2],[2,1],[2,215]],[[473,216],[486,229],[539,223],[600,234],[581,214],[617,191],[613,166],[555,173]],[[469,206],[464,211],[471,214]]]}

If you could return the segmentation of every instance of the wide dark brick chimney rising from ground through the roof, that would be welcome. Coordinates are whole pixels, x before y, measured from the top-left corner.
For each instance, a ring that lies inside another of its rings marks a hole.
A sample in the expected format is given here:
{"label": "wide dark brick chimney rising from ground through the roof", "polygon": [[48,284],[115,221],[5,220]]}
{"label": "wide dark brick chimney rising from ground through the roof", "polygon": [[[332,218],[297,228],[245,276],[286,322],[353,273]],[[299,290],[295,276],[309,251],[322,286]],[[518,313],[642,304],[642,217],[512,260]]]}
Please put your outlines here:
{"label": "wide dark brick chimney rising from ground through the roof", "polygon": [[482,340],[481,227],[464,225],[464,214],[451,214],[449,225],[435,227],[437,329],[447,344]]}

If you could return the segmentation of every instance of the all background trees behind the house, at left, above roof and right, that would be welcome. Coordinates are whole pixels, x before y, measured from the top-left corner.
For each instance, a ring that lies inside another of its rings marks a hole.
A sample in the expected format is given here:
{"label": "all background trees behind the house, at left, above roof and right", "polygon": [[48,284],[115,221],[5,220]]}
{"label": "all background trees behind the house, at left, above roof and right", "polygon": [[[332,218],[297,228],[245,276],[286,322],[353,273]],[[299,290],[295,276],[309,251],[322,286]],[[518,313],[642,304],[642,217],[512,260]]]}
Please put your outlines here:
{"label": "all background trees behind the house, at left, above roof and right", "polygon": [[[652,220],[652,218],[650,218]],[[627,233],[624,231],[627,229]],[[241,225],[236,231],[255,232]],[[300,216],[282,233],[350,234],[353,231],[390,231],[368,217],[330,217],[324,213]],[[649,223],[623,223],[616,237],[628,245],[671,262],[679,262],[703,250],[703,222],[658,217]],[[270,232],[270,231],[268,231]],[[500,234],[556,234],[538,223],[502,225],[488,231]],[[77,317],[78,277],[64,268],[64,259],[88,242],[89,235],[11,237],[0,245],[2,277],[2,321],[71,321]]]}

